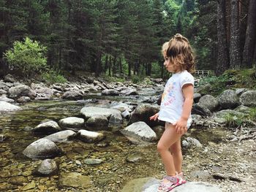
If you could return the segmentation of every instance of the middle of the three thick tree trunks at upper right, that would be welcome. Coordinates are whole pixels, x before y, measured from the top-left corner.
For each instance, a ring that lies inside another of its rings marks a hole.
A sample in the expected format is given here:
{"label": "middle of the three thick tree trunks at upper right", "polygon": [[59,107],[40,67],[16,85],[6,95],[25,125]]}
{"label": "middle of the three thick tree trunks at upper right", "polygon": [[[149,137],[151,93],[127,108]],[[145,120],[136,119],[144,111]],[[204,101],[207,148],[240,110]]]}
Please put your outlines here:
{"label": "middle of the three thick tree trunks at upper right", "polygon": [[230,68],[241,68],[240,31],[239,31],[239,0],[231,0],[230,25]]}

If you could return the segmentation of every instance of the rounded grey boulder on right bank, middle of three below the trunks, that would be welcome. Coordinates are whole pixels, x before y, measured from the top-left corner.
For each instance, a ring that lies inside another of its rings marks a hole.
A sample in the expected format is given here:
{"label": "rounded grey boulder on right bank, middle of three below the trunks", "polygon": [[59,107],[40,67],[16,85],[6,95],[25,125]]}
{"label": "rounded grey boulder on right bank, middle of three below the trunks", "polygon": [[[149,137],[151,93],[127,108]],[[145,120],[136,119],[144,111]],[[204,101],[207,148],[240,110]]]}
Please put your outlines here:
{"label": "rounded grey boulder on right bank, middle of three below the trunks", "polygon": [[218,102],[222,109],[233,109],[240,104],[236,92],[230,89],[223,91],[223,93],[219,95]]}

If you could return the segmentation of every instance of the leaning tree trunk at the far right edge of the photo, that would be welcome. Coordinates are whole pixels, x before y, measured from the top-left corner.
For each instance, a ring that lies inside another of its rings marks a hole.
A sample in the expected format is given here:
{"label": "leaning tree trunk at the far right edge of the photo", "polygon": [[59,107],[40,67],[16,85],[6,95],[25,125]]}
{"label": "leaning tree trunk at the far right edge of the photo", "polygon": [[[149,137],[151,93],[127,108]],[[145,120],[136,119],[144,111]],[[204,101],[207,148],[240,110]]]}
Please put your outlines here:
{"label": "leaning tree trunk at the far right edge of the photo", "polygon": [[252,68],[252,59],[255,52],[256,32],[256,1],[249,1],[249,11],[246,28],[246,39],[243,52],[243,67]]}

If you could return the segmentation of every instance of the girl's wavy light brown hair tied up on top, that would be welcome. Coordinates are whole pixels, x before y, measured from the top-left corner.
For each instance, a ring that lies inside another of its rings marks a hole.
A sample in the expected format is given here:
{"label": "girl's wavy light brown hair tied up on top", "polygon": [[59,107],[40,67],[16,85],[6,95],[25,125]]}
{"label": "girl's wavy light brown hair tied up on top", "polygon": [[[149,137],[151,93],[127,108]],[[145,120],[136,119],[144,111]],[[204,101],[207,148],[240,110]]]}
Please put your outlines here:
{"label": "girl's wavy light brown hair tied up on top", "polygon": [[176,34],[170,39],[166,51],[167,57],[174,65],[175,72],[187,70],[195,71],[195,58],[189,40],[181,34]]}

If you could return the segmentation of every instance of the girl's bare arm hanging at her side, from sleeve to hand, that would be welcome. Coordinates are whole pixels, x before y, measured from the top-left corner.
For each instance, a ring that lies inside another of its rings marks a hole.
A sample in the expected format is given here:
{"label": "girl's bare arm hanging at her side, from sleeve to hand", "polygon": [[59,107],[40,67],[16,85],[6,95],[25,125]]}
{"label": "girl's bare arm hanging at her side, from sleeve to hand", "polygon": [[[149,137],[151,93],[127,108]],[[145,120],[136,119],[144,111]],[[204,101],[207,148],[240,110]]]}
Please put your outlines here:
{"label": "girl's bare arm hanging at her side, from sleeve to hand", "polygon": [[194,86],[192,84],[185,84],[182,87],[182,92],[184,96],[183,110],[181,118],[176,122],[176,132],[178,134],[184,134],[187,132],[187,120],[192,110]]}

